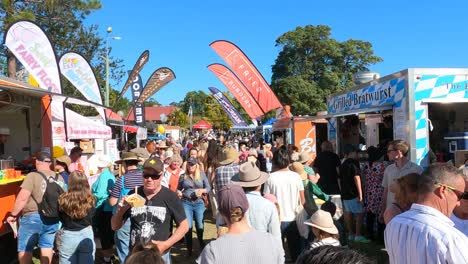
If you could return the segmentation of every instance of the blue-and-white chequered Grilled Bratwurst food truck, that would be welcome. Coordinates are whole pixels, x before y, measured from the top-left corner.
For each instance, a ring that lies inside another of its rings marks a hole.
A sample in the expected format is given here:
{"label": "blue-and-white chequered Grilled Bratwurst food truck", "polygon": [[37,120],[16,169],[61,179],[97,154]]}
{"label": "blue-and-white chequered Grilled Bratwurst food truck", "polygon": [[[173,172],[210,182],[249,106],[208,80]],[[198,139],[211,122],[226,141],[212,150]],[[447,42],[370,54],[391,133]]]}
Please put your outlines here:
{"label": "blue-and-white chequered Grilled Bratwurst food truck", "polygon": [[345,144],[380,146],[401,139],[423,167],[466,158],[468,69],[410,68],[359,84],[327,100],[328,138],[338,153]]}

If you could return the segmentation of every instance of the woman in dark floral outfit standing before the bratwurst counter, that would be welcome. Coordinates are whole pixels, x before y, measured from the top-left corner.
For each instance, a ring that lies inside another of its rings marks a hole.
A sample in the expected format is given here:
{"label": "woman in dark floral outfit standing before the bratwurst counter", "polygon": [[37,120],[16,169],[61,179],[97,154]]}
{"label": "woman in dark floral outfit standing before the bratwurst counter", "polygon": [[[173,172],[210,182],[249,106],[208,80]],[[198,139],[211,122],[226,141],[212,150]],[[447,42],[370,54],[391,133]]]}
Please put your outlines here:
{"label": "woman in dark floral outfit standing before the bratwurst counter", "polygon": [[382,211],[382,196],[383,187],[382,180],[386,163],[377,161],[379,159],[379,150],[376,147],[367,149],[368,161],[363,165],[363,176],[365,179],[365,210],[366,210],[366,227],[371,238],[374,237],[375,222],[378,226],[378,238],[383,238],[384,225],[379,220]]}

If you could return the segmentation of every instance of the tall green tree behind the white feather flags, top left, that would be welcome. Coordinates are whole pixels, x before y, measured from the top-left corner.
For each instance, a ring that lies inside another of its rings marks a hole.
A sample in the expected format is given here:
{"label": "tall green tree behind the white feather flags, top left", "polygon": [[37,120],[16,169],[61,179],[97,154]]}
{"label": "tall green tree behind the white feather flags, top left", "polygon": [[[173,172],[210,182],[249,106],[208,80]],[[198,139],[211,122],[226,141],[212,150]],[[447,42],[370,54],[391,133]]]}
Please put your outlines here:
{"label": "tall green tree behind the white feather flags, top left", "polygon": [[[68,51],[75,51],[83,55],[90,62],[99,86],[104,87],[105,60],[103,57],[106,56],[107,52],[106,40],[99,37],[97,25],[85,26],[83,23],[91,12],[100,9],[101,6],[100,0],[2,0],[0,2],[0,37],[3,38],[6,29],[19,19],[35,21],[49,36],[58,56]],[[14,56],[4,47],[1,48],[1,53],[7,60],[9,76],[14,78],[16,71]],[[113,57],[111,49],[109,49],[109,54],[111,84],[118,85],[125,76],[122,60]],[[81,93],[65,78],[62,78],[62,81],[63,94],[83,98]],[[114,101],[123,104],[111,103],[114,105],[113,110],[128,110],[126,101],[117,99],[115,97]],[[125,109],[126,107],[127,109]],[[73,108],[82,114],[94,111],[81,106]]]}

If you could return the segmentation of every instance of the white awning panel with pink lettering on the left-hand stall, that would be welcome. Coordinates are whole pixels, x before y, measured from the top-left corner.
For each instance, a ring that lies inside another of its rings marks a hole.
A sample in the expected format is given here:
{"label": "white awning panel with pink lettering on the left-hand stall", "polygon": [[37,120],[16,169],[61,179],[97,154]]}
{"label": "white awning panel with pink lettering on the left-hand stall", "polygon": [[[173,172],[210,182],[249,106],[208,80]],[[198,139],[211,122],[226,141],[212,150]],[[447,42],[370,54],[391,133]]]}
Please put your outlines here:
{"label": "white awning panel with pink lettering on the left-hand stall", "polygon": [[[111,139],[112,130],[97,121],[93,121],[68,108],[65,108],[68,139]],[[52,117],[53,129],[63,131],[64,117],[60,111]]]}

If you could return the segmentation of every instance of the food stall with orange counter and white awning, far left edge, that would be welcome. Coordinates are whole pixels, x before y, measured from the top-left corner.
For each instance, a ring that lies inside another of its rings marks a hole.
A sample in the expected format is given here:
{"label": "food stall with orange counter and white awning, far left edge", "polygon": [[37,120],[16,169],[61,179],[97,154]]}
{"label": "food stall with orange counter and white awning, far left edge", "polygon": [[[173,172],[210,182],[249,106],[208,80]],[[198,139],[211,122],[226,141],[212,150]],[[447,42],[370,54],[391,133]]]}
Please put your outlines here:
{"label": "food stall with orange counter and white awning, far left edge", "polygon": [[8,128],[10,132],[2,143],[2,156],[7,160],[2,160],[0,164],[3,171],[0,180],[0,237],[10,230],[4,225],[4,220],[13,208],[24,175],[33,169],[32,156],[36,152],[51,153],[53,145],[66,146],[68,140],[74,138],[111,137],[107,126],[67,108],[62,112],[65,115],[52,115],[52,102],[102,107],[9,78],[0,78],[0,127]]}

